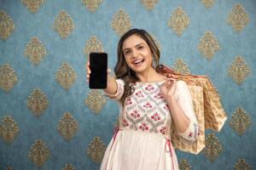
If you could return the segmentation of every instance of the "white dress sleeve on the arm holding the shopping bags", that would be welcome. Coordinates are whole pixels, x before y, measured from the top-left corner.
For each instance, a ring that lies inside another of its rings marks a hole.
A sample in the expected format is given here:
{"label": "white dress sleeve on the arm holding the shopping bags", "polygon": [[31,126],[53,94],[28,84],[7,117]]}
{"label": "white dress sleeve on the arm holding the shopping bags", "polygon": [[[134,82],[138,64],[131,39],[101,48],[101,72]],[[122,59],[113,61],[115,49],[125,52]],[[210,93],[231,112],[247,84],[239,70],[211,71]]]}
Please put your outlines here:
{"label": "white dress sleeve on the arm holding the shopping bags", "polygon": [[189,93],[189,88],[186,82],[177,81],[177,88],[175,92],[175,99],[181,106],[184,114],[189,118],[189,127],[182,133],[177,132],[183,139],[195,141],[198,137],[198,123],[193,109],[192,98]]}

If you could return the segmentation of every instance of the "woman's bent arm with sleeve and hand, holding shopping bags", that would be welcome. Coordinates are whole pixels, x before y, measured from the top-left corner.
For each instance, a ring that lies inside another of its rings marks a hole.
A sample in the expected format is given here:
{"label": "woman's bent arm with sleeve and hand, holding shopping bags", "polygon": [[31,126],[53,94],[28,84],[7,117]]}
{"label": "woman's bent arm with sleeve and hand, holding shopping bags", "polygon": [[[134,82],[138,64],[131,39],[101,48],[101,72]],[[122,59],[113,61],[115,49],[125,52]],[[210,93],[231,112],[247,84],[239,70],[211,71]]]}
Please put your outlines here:
{"label": "woman's bent arm with sleeve and hand, holding shopping bags", "polygon": [[198,136],[198,123],[193,109],[193,103],[186,82],[170,80],[161,88],[162,94],[169,106],[172,120],[177,133],[184,139],[194,141]]}

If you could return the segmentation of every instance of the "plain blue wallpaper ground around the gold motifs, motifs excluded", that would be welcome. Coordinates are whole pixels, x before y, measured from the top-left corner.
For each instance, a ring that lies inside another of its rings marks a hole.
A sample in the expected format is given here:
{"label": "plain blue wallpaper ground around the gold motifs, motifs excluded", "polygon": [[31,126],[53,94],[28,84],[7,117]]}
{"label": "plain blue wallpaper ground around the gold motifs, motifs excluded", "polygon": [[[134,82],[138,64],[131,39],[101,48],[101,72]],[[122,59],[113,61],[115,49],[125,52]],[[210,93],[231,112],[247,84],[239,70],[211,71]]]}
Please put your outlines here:
{"label": "plain blue wallpaper ground around the gold motifs, motifs excluded", "polygon": [[[230,9],[240,3],[249,17],[247,26],[237,33],[227,24]],[[172,11],[180,6],[189,16],[189,26],[180,37],[167,26]],[[0,67],[9,65],[15,70],[18,81],[5,93],[0,90],[0,120],[12,116],[20,133],[15,140],[6,144],[0,139],[0,169],[38,169],[28,159],[28,152],[36,139],[41,139],[49,149],[49,158],[42,170],[61,169],[71,163],[75,169],[99,169],[100,165],[86,155],[90,141],[99,136],[105,144],[112,137],[112,128],[118,116],[118,105],[107,99],[106,105],[96,115],[84,105],[90,89],[85,82],[83,54],[85,42],[96,35],[108,53],[108,67],[113,70],[116,63],[116,47],[119,36],[110,26],[113,14],[122,8],[131,20],[131,27],[143,28],[160,42],[160,63],[172,67],[177,58],[189,66],[192,74],[207,75],[218,89],[224,111],[228,116],[223,129],[212,132],[222,144],[223,150],[213,162],[201,152],[191,155],[177,150],[177,158],[185,158],[192,169],[233,169],[241,158],[256,169],[256,1],[216,0],[211,8],[205,8],[199,0],[159,0],[148,11],[139,0],[103,0],[95,13],[91,14],[80,0],[45,0],[37,13],[32,14],[21,1],[0,0],[0,10],[9,14],[14,21],[15,31],[0,41]],[[74,29],[66,40],[62,40],[52,28],[55,17],[65,10],[73,19]],[[0,20],[2,22],[2,20]],[[218,39],[219,49],[212,59],[207,60],[197,50],[205,31],[211,31]],[[38,37],[47,51],[37,66],[26,58],[24,50],[32,37]],[[227,70],[237,55],[241,55],[250,69],[250,74],[237,85]],[[76,72],[77,79],[66,91],[55,82],[55,73],[63,62]],[[34,116],[27,109],[28,96],[34,88],[40,88],[48,99],[48,108],[41,116]],[[230,117],[241,107],[251,119],[251,126],[243,135],[237,135],[229,126]],[[79,124],[79,129],[70,141],[57,132],[57,124],[69,112]],[[207,130],[207,133],[211,131]]]}

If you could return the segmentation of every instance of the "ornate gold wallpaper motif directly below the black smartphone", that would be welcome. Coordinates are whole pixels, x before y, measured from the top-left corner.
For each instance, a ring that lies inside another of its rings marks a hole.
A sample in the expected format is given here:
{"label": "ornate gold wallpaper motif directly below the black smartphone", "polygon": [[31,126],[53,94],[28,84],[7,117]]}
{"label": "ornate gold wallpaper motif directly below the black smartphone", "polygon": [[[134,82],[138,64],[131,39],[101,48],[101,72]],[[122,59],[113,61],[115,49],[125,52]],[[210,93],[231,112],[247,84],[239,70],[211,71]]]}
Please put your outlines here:
{"label": "ornate gold wallpaper motif directly below the black smartphone", "polygon": [[88,97],[84,100],[84,105],[89,107],[90,111],[98,114],[102,110],[103,105],[106,104],[106,99],[102,96],[101,90],[90,90]]}

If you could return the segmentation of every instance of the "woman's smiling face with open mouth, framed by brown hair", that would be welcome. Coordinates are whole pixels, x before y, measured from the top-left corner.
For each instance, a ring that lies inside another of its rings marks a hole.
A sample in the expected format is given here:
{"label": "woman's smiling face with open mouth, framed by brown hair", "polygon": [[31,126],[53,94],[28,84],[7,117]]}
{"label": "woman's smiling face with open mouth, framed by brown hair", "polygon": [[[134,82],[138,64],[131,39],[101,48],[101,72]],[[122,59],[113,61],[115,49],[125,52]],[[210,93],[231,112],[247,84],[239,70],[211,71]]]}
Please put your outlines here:
{"label": "woman's smiling face with open mouth, framed by brown hair", "polygon": [[148,43],[137,35],[128,37],[123,42],[125,61],[132,71],[142,73],[152,66],[152,54]]}

